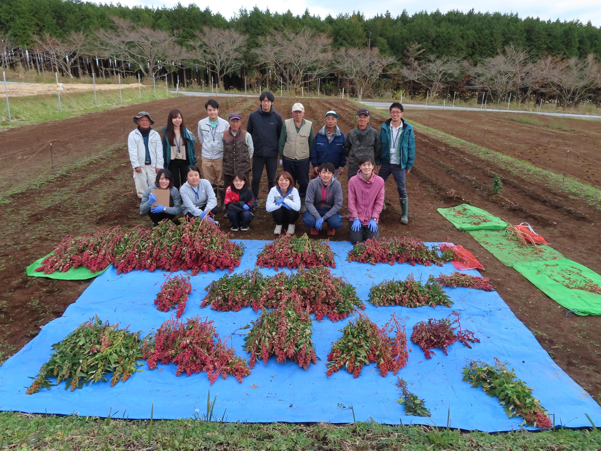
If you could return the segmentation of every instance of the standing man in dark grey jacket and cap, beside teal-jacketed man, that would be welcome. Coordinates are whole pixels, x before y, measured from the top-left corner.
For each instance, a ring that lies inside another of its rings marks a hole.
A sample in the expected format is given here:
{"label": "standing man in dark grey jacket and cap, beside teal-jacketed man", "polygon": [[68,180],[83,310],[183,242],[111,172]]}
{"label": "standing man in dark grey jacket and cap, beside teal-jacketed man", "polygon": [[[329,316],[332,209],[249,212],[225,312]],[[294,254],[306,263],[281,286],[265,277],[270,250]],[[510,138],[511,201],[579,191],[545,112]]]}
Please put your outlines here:
{"label": "standing man in dark grey jacket and cap, beside teal-jacketed man", "polygon": [[370,112],[367,108],[359,108],[356,114],[357,126],[350,130],[344,143],[344,151],[349,159],[349,180],[359,171],[359,159],[370,156],[376,162],[374,169],[380,170],[380,133],[369,124]]}

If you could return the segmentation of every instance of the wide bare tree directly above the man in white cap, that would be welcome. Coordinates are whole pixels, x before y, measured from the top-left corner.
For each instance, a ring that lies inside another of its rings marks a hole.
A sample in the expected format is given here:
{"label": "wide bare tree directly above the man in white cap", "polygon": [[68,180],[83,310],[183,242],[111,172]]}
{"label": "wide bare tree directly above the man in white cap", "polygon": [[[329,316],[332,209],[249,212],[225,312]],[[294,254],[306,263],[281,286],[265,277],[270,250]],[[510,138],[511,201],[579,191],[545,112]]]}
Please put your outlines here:
{"label": "wide bare tree directly above the man in white cap", "polygon": [[287,87],[309,83],[329,71],[332,38],[303,28],[299,32],[276,31],[255,50],[267,66],[280,73]]}

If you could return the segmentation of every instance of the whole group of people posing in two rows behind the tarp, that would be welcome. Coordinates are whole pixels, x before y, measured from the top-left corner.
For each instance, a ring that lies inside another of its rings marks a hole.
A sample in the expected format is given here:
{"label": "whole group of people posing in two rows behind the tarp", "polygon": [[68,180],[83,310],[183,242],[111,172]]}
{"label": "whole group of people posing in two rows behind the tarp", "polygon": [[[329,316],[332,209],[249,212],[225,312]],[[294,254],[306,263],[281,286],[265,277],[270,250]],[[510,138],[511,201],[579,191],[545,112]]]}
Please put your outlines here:
{"label": "whole group of people posing in two rows behind the tarp", "polygon": [[[347,206],[350,241],[379,238],[379,216],[385,209],[384,185],[393,176],[401,207],[400,222],[407,224],[408,199],[405,177],[413,167],[413,127],[403,119],[403,105],[389,108],[390,118],[380,131],[369,124],[367,108],[356,112],[357,126],[348,136],[337,125],[338,114],[328,111],[325,124],[314,133],[304,118],[302,103],[294,103],[291,118],[282,120],[273,109],[274,96],[261,93],[260,105],[242,129],[242,116],[219,117],[219,103],[205,103],[207,117],[198,122],[200,165],[195,136],[184,125],[182,112],[172,109],[162,137],[152,129],[146,111],[133,117],[136,129],[129,134],[129,156],[140,213],[154,225],[163,219],[186,218],[216,222],[219,211],[234,232],[249,230],[258,205],[263,170],[267,171],[269,195],[265,209],[272,213],[275,235],[295,232],[297,219],[318,235],[328,235],[343,225],[343,190],[340,176],[348,165]],[[278,172],[278,162],[281,169]],[[200,168],[199,168],[200,167]],[[249,184],[252,170],[252,185]],[[298,186],[298,188],[297,188]],[[161,204],[159,191],[168,190]],[[218,201],[219,198],[219,201]]]}

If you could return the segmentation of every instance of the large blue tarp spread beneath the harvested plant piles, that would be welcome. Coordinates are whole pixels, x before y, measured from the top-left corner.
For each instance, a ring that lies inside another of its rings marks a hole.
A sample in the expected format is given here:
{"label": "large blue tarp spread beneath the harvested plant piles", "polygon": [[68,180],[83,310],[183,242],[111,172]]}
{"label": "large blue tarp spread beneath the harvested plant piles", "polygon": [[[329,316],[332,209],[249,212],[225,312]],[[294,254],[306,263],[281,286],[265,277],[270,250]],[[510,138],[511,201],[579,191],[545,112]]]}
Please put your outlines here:
{"label": "large blue tarp spread beneath the harvested plant piles", "polygon": [[[266,241],[242,242],[246,250],[236,272],[253,268],[257,253],[266,244]],[[346,262],[351,245],[347,242],[330,242],[330,245],[337,254],[337,268],[332,272],[354,284],[359,298],[364,301],[367,301],[371,285],[386,278],[404,280],[413,273],[416,279],[425,281],[430,274],[455,271],[450,263],[439,267]],[[261,271],[266,275],[275,274],[272,269]],[[258,317],[251,308],[237,313],[200,308],[206,293],[204,288],[225,272],[192,277],[194,291],[185,311],[185,316],[200,314],[215,320],[221,336],[230,335]],[[474,270],[465,272],[478,275]],[[366,313],[380,326],[393,312],[403,318],[407,338],[417,322],[444,318],[452,310],[457,310],[462,314],[462,327],[474,331],[481,339],[481,343],[475,343],[472,349],[454,343],[448,356],[436,351],[432,360],[426,360],[421,349],[409,342],[409,362],[398,375],[408,382],[410,391],[426,400],[426,406],[432,412],[431,420],[404,416],[403,407],[396,401],[399,397],[395,387],[397,377],[389,373],[382,378],[374,364],[365,366],[357,379],[343,371],[326,378],[326,356],[332,342],[340,338],[340,330],[347,324],[347,321],[333,323],[328,319],[313,322],[313,342],[321,361],[311,365],[307,371],[293,362],[276,363],[275,357],[272,357],[267,365],[258,362],[242,384],[230,377],[227,380],[219,378],[209,385],[204,373],[176,377],[173,364],[159,364],[159,368],[151,371],[144,365],[141,367],[144,371],[112,388],[108,382],[100,382],[71,392],[64,390],[64,384],[60,384],[52,386],[51,390],[25,394],[31,384],[28,376],[37,374],[49,358],[52,344],[95,314],[111,324],[129,324],[131,330],[141,330],[143,334],[156,330],[171,316],[171,313],[156,310],[153,305],[165,277],[162,271],[117,275],[112,266],[99,275],[61,318],[44,326],[37,337],[0,367],[0,410],[77,413],[82,416],[106,416],[111,411],[115,417],[148,419],[153,405],[154,419],[188,418],[194,417],[196,409],[200,413],[206,411],[207,391],[210,390],[211,398],[217,396],[215,411],[221,414],[227,410],[224,420],[233,422],[349,423],[353,421],[352,405],[357,420],[372,417],[377,422],[389,424],[399,424],[402,420],[403,424],[433,422],[445,426],[447,409],[450,408],[451,426],[454,428],[509,431],[519,428],[522,419],[508,419],[496,398],[462,381],[462,369],[469,361],[492,363],[493,357],[498,357],[509,362],[517,376],[535,388],[534,396],[551,415],[555,414],[556,424],[570,428],[590,426],[585,417],[587,413],[597,426],[601,426],[599,405],[551,360],[498,293],[465,288],[447,289],[454,302],[451,308],[374,307],[366,304]],[[237,353],[248,357],[243,350],[243,337],[231,337]]]}

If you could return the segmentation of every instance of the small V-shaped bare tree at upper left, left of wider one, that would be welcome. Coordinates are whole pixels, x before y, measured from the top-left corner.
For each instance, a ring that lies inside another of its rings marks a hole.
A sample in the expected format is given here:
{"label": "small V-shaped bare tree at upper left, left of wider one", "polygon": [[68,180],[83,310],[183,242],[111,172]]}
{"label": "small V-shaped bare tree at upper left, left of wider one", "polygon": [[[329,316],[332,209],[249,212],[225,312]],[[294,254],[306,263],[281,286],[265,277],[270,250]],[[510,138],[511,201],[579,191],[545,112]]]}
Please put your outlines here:
{"label": "small V-shaped bare tree at upper left, left of wider one", "polygon": [[43,37],[34,37],[37,43],[37,51],[46,55],[50,64],[55,67],[56,72],[62,69],[63,73],[73,78],[72,66],[75,60],[84,52],[88,37],[84,32],[71,32],[71,34],[60,40],[52,37],[49,34],[44,34]]}

